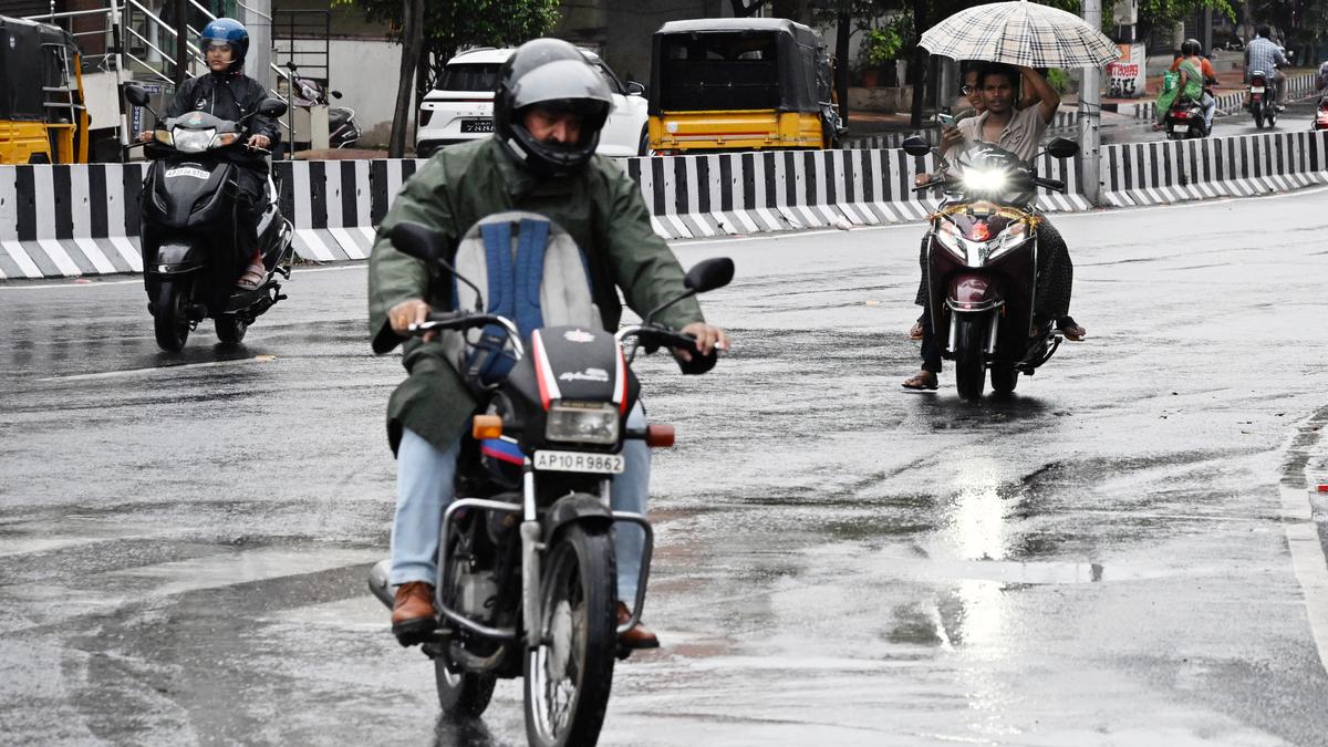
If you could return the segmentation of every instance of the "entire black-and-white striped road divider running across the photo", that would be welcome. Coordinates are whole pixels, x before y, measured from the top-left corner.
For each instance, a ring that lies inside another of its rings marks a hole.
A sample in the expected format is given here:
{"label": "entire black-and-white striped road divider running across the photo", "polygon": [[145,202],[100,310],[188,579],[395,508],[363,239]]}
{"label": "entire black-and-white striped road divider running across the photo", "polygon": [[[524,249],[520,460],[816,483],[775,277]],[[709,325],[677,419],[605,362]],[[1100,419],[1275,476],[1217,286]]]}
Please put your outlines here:
{"label": "entire black-and-white striped road divider running across the photo", "polygon": [[[1102,202],[1158,205],[1328,182],[1328,132],[1125,144],[1101,152]],[[422,161],[274,165],[295,247],[315,262],[364,259],[401,183]],[[898,149],[724,153],[618,161],[665,238],[920,221],[938,195],[912,191],[936,158]],[[142,271],[143,163],[0,166],[0,280]],[[1080,160],[1042,156],[1048,211],[1089,210]]]}

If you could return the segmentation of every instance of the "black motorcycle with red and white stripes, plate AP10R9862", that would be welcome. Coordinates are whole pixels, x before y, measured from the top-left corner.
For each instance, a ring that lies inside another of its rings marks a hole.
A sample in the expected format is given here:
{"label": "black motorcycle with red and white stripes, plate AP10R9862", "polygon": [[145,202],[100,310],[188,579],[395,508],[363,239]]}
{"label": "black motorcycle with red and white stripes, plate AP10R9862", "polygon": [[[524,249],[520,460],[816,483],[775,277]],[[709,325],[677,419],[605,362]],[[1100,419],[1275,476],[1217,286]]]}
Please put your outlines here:
{"label": "black motorcycle with red and white stripes, plate AP10R9862", "polygon": [[[402,253],[477,294],[475,311],[434,312],[410,334],[482,330],[473,350],[501,350],[511,366],[495,380],[494,359],[482,355],[463,375],[481,397],[481,415],[473,417],[458,460],[457,500],[438,528],[437,629],[421,633],[438,702],[449,716],[474,718],[489,706],[498,678],[523,678],[531,744],[594,744],[615,661],[631,653],[619,649],[618,635],[640,621],[653,548],[645,516],[610,508],[610,482],[624,471],[624,440],[673,444],[668,425],[628,427],[639,395],[631,363],[639,351],[667,347],[691,351],[693,364],[701,364],[691,372],[713,364],[713,354],[697,358],[693,338],[652,318],[677,300],[728,284],[733,262],[696,265],[683,295],[616,335],[543,327],[523,342],[510,319],[479,311],[479,290],[444,259],[440,234],[404,222],[390,238]],[[629,354],[624,342],[635,343]],[[644,530],[636,599],[623,625],[615,614],[611,532],[618,522]],[[390,609],[388,562],[371,569],[369,589]]]}

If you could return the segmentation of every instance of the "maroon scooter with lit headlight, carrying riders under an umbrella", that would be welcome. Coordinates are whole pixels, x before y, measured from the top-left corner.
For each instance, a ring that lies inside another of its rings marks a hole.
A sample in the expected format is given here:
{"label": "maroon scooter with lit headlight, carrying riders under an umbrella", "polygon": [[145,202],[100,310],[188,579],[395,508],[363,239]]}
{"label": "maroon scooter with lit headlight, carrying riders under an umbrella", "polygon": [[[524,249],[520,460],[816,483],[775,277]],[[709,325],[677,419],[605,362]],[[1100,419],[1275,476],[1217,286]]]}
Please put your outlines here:
{"label": "maroon scooter with lit headlight, carrying riders under an umbrella", "polygon": [[[920,137],[903,142],[906,153],[934,149]],[[1056,138],[1053,158],[1069,158],[1078,145]],[[942,175],[915,187],[944,189],[932,215],[927,245],[928,304],[942,356],[955,362],[955,383],[965,400],[981,397],[987,370],[992,389],[1015,391],[1060,347],[1053,319],[1033,315],[1037,298],[1037,187],[1065,191],[1065,182],[1038,177],[1017,156],[977,144]],[[940,330],[948,330],[942,335]]]}

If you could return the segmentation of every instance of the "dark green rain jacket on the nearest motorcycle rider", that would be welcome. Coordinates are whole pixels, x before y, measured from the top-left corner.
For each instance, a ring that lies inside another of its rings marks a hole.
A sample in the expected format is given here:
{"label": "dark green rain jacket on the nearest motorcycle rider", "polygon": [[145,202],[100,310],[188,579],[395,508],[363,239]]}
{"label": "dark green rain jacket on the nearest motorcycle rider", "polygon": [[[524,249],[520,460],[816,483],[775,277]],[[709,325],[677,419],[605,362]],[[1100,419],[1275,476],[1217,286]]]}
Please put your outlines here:
{"label": "dark green rain jacket on the nearest motorcycle rider", "polygon": [[[539,213],[556,222],[586,254],[592,294],[604,330],[618,330],[627,304],[640,315],[684,291],[683,268],[651,229],[640,189],[622,169],[595,156],[580,173],[539,179],[483,138],[446,148],[402,185],[369,257],[369,335],[373,352],[402,346],[409,376],[388,401],[388,440],[396,452],[401,429],[410,428],[434,447],[456,441],[477,403],[437,342],[404,339],[392,331],[388,310],[413,298],[436,310],[450,310],[450,283],[436,282],[440,271],[392,246],[388,231],[413,221],[441,231],[449,259],[465,233],[481,218],[506,210]],[[696,299],[683,300],[656,319],[672,327],[703,322]]]}

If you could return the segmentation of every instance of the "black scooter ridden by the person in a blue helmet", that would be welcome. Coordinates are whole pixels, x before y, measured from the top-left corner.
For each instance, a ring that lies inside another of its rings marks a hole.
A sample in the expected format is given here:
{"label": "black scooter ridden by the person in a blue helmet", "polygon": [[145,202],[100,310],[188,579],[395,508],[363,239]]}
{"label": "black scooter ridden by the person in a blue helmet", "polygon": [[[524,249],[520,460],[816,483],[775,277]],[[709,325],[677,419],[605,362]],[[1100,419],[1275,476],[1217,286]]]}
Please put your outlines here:
{"label": "black scooter ridden by the person in a blue helmet", "polygon": [[[126,86],[125,97],[147,108],[147,92]],[[280,117],[286,104],[264,100],[258,113]],[[161,117],[158,117],[161,120]],[[235,288],[248,249],[236,246],[234,173],[226,149],[246,148],[243,122],[190,112],[158,126],[147,152],[153,158],[141,193],[143,287],[157,344],[178,352],[207,318],[216,338],[239,344],[246,331],[282,294],[279,278],[291,278],[293,229],[282,217],[276,186],[267,182],[267,203],[258,226],[266,275],[254,290]],[[231,189],[228,189],[231,187]]]}

